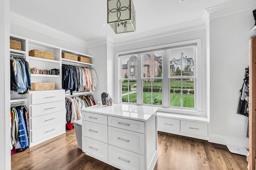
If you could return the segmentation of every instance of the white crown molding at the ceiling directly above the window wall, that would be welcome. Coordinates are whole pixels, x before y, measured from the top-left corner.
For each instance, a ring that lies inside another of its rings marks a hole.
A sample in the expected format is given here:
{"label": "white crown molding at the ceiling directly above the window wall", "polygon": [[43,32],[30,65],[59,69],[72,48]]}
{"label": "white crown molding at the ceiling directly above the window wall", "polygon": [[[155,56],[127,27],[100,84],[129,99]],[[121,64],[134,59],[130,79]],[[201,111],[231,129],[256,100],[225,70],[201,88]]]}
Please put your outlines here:
{"label": "white crown molding at the ceiling directly above the window wall", "polygon": [[206,22],[204,20],[196,20],[185,24],[171,26],[168,28],[162,28],[151,32],[130,36],[128,38],[122,38],[114,41],[114,46],[125,45],[134,42],[141,42],[145,40],[151,40],[155,38],[161,38],[164,36],[170,36],[174,34],[180,34],[184,32],[190,32],[194,30],[200,30],[206,28]]}

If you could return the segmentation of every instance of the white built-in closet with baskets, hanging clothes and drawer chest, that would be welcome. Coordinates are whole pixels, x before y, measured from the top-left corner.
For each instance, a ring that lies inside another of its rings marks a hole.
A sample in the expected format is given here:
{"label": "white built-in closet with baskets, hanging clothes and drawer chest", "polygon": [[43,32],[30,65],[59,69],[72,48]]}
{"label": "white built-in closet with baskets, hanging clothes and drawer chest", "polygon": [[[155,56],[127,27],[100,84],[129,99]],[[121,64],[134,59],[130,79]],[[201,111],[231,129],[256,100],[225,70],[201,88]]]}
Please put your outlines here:
{"label": "white built-in closet with baskets, hanging clothes and drawer chest", "polygon": [[[26,150],[27,147],[66,133],[65,125],[78,120],[79,109],[95,105],[92,95],[98,80],[92,69],[93,64],[62,58],[62,53],[85,57],[88,61],[93,58],[80,52],[10,35],[12,154],[16,149]],[[64,68],[71,68],[72,72]],[[70,104],[73,101],[74,104],[73,108],[70,107],[69,115],[67,101],[71,101]],[[72,121],[67,118],[71,113],[76,115]],[[17,126],[19,121],[22,122],[21,127]],[[19,128],[26,129],[25,144],[19,142]]]}

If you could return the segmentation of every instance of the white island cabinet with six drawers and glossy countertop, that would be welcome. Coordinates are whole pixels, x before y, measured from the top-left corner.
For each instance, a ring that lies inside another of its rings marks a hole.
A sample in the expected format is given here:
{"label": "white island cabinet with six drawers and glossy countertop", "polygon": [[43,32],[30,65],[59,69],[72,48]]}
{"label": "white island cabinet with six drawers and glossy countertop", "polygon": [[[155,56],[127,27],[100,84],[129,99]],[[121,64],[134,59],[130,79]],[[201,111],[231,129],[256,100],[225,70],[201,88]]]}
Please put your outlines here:
{"label": "white island cabinet with six drawers and glossy countertop", "polygon": [[157,109],[113,104],[82,109],[82,150],[123,170],[152,170],[158,158]]}

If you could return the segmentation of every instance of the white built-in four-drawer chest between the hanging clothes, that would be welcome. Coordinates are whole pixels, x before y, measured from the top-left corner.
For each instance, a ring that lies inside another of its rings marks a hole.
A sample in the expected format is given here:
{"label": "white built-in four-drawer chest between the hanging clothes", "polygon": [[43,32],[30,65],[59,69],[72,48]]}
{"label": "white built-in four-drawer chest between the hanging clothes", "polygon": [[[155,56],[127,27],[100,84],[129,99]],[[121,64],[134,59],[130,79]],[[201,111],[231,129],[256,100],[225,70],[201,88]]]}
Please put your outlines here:
{"label": "white built-in four-drawer chest between the hanging clothes", "polygon": [[66,132],[65,91],[30,91],[30,147]]}

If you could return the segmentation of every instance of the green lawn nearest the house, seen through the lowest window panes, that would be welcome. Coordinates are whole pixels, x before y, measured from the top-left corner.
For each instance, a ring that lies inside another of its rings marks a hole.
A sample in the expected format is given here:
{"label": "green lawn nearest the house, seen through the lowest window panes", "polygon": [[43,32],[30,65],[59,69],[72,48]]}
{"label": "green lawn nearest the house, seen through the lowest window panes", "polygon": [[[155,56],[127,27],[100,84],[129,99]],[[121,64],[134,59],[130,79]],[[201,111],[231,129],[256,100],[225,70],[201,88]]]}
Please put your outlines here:
{"label": "green lawn nearest the house, seen through the lowest window panes", "polygon": [[[134,101],[136,101],[136,97],[137,97],[137,93],[130,94],[130,102],[134,103]],[[128,101],[128,95],[125,95],[122,98]],[[162,93],[153,92],[153,99],[154,98],[158,100],[162,100]],[[143,93],[143,103],[144,104],[151,103],[150,92]],[[180,105],[181,105],[181,94],[176,94],[176,93],[170,94],[170,106],[180,107]],[[194,108],[194,95],[183,94],[182,107]]]}

